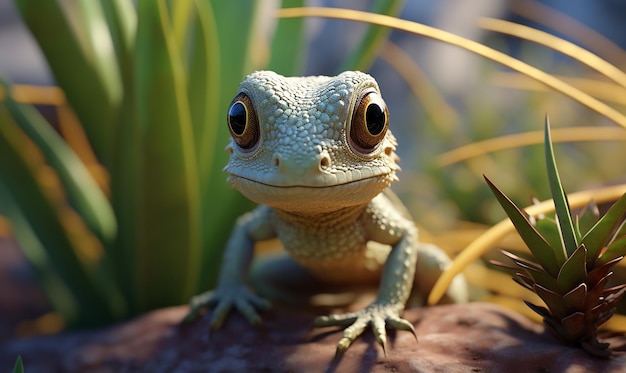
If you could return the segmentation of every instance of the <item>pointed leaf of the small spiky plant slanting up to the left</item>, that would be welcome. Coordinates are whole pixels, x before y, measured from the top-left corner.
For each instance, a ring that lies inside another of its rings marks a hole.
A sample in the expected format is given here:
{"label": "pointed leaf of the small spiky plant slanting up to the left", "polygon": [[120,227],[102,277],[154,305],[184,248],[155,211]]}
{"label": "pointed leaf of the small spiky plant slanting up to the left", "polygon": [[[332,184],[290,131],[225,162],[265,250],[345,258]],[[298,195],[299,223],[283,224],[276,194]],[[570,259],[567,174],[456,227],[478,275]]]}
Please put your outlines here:
{"label": "pointed leaf of the small spiky plant slanting up to the left", "polygon": [[528,220],[525,212],[520,210],[489,178],[486,176],[484,178],[536,260],[551,276],[556,277],[560,268],[560,264],[555,257],[555,252],[558,252],[558,250],[553,249],[541,234],[537,232]]}

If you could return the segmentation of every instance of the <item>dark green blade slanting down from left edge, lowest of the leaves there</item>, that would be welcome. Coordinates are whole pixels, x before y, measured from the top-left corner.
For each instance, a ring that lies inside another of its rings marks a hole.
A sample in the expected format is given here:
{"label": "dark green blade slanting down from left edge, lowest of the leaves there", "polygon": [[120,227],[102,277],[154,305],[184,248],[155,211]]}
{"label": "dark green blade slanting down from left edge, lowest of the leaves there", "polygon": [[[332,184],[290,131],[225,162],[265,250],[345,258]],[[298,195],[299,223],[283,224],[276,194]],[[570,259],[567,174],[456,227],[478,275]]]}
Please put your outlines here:
{"label": "dark green blade slanting down from left edge, lowest of the leaves there", "polygon": [[102,282],[97,263],[78,255],[80,247],[62,220],[63,201],[55,201],[37,180],[26,136],[0,105],[0,180],[14,197],[39,242],[45,243],[55,272],[63,279],[83,309],[73,326],[95,326],[109,322],[119,306],[115,290]]}

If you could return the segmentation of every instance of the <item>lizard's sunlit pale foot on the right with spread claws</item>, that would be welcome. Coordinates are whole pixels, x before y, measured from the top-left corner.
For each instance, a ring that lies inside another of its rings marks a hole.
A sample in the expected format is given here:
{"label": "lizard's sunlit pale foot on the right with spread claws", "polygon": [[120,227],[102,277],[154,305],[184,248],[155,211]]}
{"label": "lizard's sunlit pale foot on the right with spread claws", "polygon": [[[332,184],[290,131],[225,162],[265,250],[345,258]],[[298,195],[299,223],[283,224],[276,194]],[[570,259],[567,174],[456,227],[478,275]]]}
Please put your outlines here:
{"label": "lizard's sunlit pale foot on the right with spread claws", "polygon": [[372,303],[366,308],[352,313],[343,315],[320,316],[315,319],[315,326],[347,326],[343,331],[343,337],[337,343],[335,358],[350,347],[352,342],[359,336],[369,325],[372,327],[376,341],[383,348],[385,355],[387,354],[387,332],[385,326],[389,325],[396,329],[407,330],[413,333],[415,340],[415,328],[413,324],[400,317],[401,306],[394,304]]}

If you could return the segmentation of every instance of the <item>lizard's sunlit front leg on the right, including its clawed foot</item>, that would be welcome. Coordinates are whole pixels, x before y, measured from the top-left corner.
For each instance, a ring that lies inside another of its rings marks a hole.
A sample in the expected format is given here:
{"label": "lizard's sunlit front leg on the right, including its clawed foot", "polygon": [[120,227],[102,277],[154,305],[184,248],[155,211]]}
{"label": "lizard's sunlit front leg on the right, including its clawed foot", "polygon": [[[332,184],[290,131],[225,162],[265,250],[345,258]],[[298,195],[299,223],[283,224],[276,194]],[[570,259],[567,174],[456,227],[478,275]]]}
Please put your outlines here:
{"label": "lizard's sunlit front leg on the right, including its clawed foot", "polygon": [[[383,229],[376,234],[379,242],[395,239],[395,244],[382,273],[376,300],[366,308],[348,314],[318,317],[315,326],[347,326],[337,344],[335,356],[341,355],[350,344],[368,327],[374,331],[376,341],[386,353],[387,334],[385,326],[408,330],[415,335],[413,325],[400,317],[411,293],[415,263],[417,260],[417,228],[412,222],[400,219],[401,226]],[[382,225],[378,225],[380,228]],[[384,228],[384,227],[383,227]],[[398,237],[400,240],[398,241]]]}

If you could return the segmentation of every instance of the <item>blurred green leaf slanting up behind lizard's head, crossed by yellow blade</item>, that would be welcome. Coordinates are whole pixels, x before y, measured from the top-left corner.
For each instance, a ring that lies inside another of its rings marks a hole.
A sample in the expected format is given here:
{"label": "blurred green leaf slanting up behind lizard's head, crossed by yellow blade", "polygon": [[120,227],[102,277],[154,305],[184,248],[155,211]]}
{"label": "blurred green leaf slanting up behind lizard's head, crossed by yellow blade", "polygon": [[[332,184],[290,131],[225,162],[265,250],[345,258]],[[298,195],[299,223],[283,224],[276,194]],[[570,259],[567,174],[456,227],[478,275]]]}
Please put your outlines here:
{"label": "blurred green leaf slanting up behind lizard's head, crossed by yellow blade", "polygon": [[[404,2],[404,0],[376,1],[372,12],[390,16],[397,15],[402,10]],[[388,28],[368,25],[365,36],[361,39],[359,45],[353,48],[353,52],[343,62],[339,72],[345,70],[367,71],[374,63],[378,47],[386,40],[389,32]]]}

